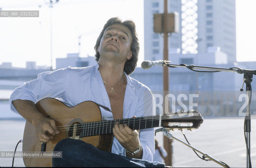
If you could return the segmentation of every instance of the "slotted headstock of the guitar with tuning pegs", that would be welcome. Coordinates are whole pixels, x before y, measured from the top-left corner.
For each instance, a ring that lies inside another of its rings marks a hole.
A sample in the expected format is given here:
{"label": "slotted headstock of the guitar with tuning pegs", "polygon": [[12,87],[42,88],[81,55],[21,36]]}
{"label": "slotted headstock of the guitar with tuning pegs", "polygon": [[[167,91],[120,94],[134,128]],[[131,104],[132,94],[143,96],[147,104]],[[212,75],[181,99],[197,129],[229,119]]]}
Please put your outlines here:
{"label": "slotted headstock of the guitar with tuning pegs", "polygon": [[203,117],[195,110],[170,112],[160,117],[161,127],[169,129],[197,129],[203,123]]}

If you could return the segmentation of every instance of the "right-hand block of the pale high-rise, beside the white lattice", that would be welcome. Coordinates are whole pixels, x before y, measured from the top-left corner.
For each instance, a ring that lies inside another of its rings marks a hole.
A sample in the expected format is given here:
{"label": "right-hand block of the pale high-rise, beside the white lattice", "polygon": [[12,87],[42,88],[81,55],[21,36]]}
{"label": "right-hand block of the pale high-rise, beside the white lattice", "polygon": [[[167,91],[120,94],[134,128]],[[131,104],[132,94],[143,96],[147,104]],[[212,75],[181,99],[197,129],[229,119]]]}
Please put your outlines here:
{"label": "right-hand block of the pale high-rise, beside the white lattice", "polygon": [[198,0],[198,53],[220,46],[228,62],[236,61],[235,0]]}

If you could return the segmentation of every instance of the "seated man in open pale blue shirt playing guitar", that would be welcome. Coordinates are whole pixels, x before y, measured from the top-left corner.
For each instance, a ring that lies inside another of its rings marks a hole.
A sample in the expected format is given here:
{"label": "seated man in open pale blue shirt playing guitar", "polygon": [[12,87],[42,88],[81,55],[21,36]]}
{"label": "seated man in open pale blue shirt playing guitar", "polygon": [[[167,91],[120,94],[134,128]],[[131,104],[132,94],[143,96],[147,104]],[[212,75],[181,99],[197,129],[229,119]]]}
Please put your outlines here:
{"label": "seated man in open pale blue shirt playing guitar", "polygon": [[[137,65],[139,53],[134,22],[109,19],[94,49],[98,62],[95,66],[43,72],[12,93],[11,109],[34,125],[41,142],[49,142],[60,133],[55,121],[45,117],[35,106],[44,98],[60,99],[71,107],[83,101],[94,101],[100,105],[105,117],[112,119],[154,115],[150,90],[128,76]],[[164,163],[152,162],[154,128],[132,130],[127,124],[116,122],[113,135],[111,153],[80,140],[63,139],[54,149],[62,151],[63,157],[53,159],[52,164],[83,167],[165,166]]]}

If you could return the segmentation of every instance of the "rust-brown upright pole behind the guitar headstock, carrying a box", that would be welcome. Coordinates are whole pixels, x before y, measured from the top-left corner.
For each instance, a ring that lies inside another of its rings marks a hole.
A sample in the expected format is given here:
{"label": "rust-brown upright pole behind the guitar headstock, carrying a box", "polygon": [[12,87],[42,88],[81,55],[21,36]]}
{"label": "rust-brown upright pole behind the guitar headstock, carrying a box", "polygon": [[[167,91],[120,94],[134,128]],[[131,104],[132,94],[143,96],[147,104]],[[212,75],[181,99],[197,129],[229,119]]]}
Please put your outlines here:
{"label": "rust-brown upright pole behind the guitar headstock, carrying a box", "polygon": [[[168,14],[168,3],[167,0],[164,0],[164,24],[163,24],[163,30],[164,30],[164,60],[169,60],[168,59],[168,32],[167,32],[167,14]],[[164,84],[164,98],[165,95],[168,94],[169,92],[169,69],[168,67],[163,67],[163,84]],[[165,106],[169,106],[169,104],[165,104],[165,100],[164,100],[164,109]],[[169,108],[168,108],[169,109]],[[164,111],[164,113],[166,113],[168,111]],[[172,166],[172,139],[169,139],[167,137],[164,137],[164,148],[166,150],[166,152],[168,153],[167,157],[165,158],[165,164],[168,166]]]}

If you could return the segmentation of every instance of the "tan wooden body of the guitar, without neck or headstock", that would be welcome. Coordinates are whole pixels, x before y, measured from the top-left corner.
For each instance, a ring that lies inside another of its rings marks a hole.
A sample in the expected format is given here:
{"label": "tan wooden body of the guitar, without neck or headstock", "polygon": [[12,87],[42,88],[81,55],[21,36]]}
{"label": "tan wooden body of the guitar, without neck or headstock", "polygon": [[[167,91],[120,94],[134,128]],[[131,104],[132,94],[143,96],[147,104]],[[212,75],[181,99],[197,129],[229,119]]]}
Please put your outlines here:
{"label": "tan wooden body of the guitar, without neck or headstock", "polygon": [[[54,119],[56,127],[68,125],[67,127],[63,127],[65,129],[60,130],[58,128],[60,134],[55,135],[51,141],[46,143],[46,151],[53,151],[54,146],[60,140],[65,138],[80,139],[92,144],[100,150],[111,151],[112,134],[94,135],[92,137],[81,138],[79,137],[79,132],[75,131],[77,123],[101,121],[101,112],[96,103],[92,101],[85,101],[70,108],[59,100],[45,98],[37,102],[36,107],[44,116]],[[23,152],[41,151],[41,142],[36,135],[36,129],[29,121],[27,121],[25,125],[22,150]],[[26,166],[52,166],[52,158],[30,157],[23,158],[23,161]]]}

